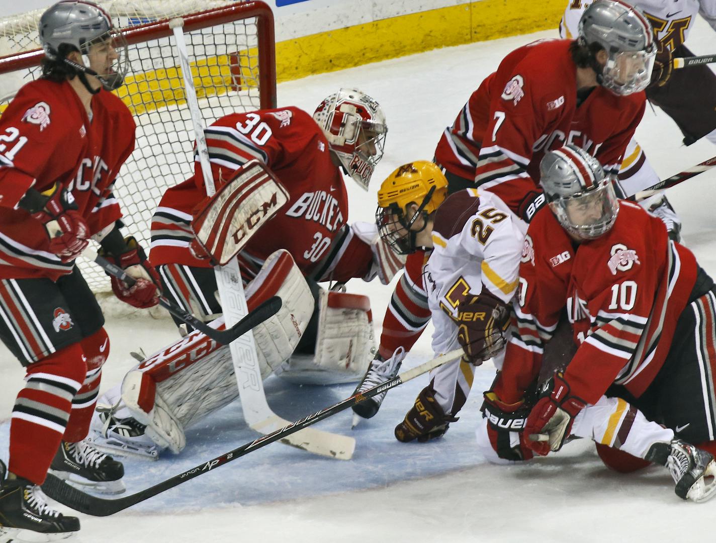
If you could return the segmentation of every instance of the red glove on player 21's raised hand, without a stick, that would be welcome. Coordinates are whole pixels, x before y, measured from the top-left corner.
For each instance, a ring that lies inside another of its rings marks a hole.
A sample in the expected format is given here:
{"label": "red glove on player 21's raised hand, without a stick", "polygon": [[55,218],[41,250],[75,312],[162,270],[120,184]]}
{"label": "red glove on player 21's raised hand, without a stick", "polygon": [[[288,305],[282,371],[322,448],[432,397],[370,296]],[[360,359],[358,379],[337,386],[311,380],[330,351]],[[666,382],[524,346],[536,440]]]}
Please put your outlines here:
{"label": "red glove on player 21's raised hand, without a stick", "polygon": [[72,193],[59,181],[42,193],[30,191],[19,206],[44,225],[49,237],[48,251],[57,254],[63,262],[76,259],[89,244],[89,227],[77,212]]}

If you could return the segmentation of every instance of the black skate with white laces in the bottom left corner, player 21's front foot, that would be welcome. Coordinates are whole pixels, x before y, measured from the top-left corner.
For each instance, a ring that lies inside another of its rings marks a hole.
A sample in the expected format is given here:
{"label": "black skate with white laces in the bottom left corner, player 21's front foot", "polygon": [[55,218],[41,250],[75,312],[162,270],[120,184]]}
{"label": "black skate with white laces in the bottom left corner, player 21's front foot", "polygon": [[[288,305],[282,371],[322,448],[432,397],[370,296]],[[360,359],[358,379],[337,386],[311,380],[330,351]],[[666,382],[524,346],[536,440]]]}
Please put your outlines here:
{"label": "black skate with white laces in the bottom left corner, player 21's front foot", "polygon": [[79,519],[52,509],[39,486],[6,471],[0,461],[0,543],[58,541],[79,530]]}

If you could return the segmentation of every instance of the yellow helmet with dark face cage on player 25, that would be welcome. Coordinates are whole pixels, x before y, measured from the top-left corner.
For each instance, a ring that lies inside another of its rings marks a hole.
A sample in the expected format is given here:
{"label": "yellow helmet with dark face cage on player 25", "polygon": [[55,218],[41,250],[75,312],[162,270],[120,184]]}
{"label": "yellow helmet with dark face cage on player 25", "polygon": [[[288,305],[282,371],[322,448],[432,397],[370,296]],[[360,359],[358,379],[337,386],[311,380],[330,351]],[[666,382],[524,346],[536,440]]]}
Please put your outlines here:
{"label": "yellow helmet with dark face cage on player 25", "polygon": [[[397,254],[414,253],[415,236],[427,226],[427,218],[448,196],[448,180],[440,168],[426,160],[415,160],[397,168],[378,190],[375,222],[378,234]],[[414,203],[411,214],[407,206]],[[411,229],[418,217],[421,229]]]}

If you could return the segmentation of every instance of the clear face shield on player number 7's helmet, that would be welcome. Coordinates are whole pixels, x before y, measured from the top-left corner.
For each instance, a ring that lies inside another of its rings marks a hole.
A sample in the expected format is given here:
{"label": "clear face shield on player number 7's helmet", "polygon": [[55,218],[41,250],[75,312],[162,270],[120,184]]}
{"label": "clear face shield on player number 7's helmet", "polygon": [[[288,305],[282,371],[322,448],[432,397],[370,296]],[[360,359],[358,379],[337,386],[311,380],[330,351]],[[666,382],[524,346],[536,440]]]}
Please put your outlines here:
{"label": "clear face shield on player number 7's helmet", "polygon": [[654,43],[644,51],[612,52],[601,72],[601,85],[619,96],[646,89],[652,80],[656,54]]}

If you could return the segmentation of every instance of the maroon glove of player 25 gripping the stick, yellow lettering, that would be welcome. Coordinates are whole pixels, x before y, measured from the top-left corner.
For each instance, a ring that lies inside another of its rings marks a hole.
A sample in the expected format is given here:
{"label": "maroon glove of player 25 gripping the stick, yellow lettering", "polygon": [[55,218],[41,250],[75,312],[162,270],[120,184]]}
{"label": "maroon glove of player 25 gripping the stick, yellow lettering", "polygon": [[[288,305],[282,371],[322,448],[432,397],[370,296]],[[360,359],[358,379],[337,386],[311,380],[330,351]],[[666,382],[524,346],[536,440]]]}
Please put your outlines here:
{"label": "maroon glove of player 25 gripping the stick, yellow lettering", "polygon": [[458,304],[455,322],[458,324],[458,343],[465,352],[463,360],[479,366],[505,347],[510,310],[485,289],[478,296],[468,296]]}

